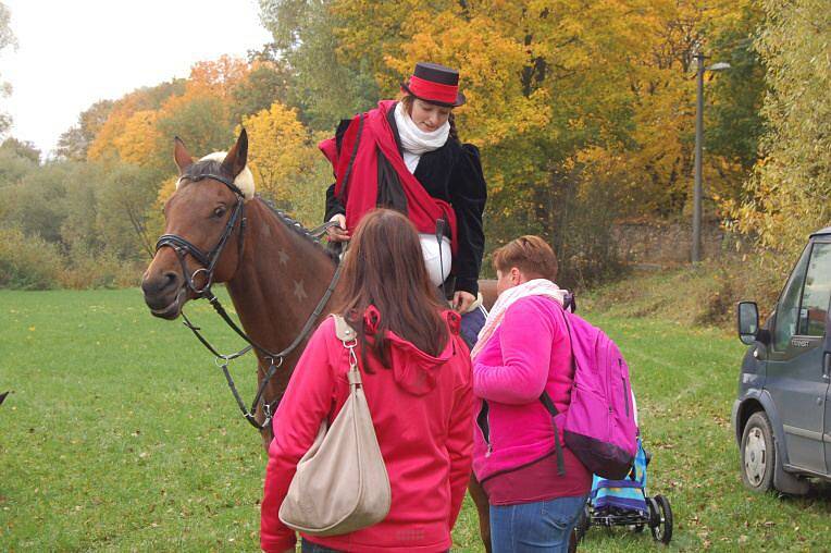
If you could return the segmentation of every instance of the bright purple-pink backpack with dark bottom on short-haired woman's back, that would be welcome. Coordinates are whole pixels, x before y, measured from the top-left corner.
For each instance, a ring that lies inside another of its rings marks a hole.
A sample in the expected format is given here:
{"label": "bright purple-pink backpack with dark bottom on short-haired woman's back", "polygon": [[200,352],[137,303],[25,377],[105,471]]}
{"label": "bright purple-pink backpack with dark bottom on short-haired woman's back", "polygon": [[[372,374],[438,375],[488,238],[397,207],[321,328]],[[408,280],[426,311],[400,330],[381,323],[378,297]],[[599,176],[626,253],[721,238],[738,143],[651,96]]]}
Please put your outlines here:
{"label": "bright purple-pink backpack with dark bottom on short-haired woman's back", "polygon": [[[576,315],[561,312],[574,362],[574,385],[562,428],[566,445],[591,472],[621,480],[631,470],[637,453],[629,367],[605,332]],[[539,401],[551,417],[557,415],[547,392],[543,392]],[[556,423],[554,435],[557,467],[562,475],[562,451]]]}

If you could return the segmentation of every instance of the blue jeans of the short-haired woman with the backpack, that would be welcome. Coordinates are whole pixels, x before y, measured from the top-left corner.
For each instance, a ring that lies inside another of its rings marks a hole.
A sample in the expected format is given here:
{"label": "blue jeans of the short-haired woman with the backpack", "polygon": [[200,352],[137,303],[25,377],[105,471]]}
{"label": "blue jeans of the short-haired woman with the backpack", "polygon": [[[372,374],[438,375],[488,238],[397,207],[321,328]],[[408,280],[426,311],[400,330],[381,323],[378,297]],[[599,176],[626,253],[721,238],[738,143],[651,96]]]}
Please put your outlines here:
{"label": "blue jeans of the short-haired woman with the backpack", "polygon": [[557,497],[519,505],[491,505],[491,545],[494,553],[569,550],[586,496]]}

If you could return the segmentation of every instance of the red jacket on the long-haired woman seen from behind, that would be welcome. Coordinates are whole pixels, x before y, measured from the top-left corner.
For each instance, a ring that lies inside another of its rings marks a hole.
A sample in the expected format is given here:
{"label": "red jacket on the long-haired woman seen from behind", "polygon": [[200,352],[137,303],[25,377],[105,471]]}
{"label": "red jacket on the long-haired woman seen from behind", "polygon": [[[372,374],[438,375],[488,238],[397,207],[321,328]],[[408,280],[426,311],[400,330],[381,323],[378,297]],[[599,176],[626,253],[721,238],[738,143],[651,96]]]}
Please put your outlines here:
{"label": "red jacket on the long-haired woman seen from behind", "polygon": [[[450,530],[461,508],[473,444],[472,370],[459,336],[459,317],[445,312],[450,340],[433,357],[389,333],[390,369],[371,355],[374,373],[361,370],[393,493],[381,523],[352,533],[312,537],[340,551],[437,552],[451,545]],[[261,507],[260,544],[285,551],[295,533],[277,516],[297,463],[311,446],[321,421],[332,421],[346,401],[347,352],[327,318],[309,341],[274,418],[274,440]],[[309,539],[309,538],[307,538]]]}

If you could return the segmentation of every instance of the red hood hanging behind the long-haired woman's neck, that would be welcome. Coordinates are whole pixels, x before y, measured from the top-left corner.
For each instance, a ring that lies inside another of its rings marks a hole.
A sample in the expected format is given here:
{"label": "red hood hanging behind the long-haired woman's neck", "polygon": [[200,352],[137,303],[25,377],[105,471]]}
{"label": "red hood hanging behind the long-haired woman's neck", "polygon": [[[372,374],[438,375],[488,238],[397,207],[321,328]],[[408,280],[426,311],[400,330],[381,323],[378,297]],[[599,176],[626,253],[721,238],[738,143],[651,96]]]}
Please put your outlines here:
{"label": "red hood hanging behind the long-haired woman's neck", "polygon": [[[370,307],[368,311],[371,309],[373,308]],[[369,317],[364,316],[364,320],[368,327],[372,327],[373,324],[370,320],[373,319],[372,315],[374,314],[368,315]],[[456,311],[449,310],[444,311],[442,318],[447,325],[449,336],[438,355],[430,355],[419,349],[412,342],[402,339],[395,332],[387,331],[386,339],[387,344],[389,344],[390,368],[384,369],[381,367],[381,364],[377,364],[376,370],[392,370],[396,383],[412,395],[424,395],[433,390],[436,386],[436,379],[442,367],[454,355],[458,354],[456,351],[458,341],[455,340],[455,336],[459,334],[461,318]],[[372,342],[373,336],[371,333],[367,336],[367,340]],[[463,353],[463,355],[467,355],[467,353]]]}

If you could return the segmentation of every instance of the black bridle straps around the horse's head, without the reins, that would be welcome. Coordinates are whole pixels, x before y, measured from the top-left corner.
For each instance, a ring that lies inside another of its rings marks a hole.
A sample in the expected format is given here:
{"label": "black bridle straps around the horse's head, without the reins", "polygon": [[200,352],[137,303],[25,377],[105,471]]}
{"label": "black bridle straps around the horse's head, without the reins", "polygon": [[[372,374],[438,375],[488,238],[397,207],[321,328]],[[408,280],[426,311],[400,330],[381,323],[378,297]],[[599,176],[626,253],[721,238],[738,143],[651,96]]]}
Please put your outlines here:
{"label": "black bridle straps around the horse's head, without the reins", "polygon": [[[210,295],[211,284],[213,284],[213,271],[216,269],[216,263],[220,260],[220,256],[222,256],[222,250],[225,249],[225,244],[227,244],[228,238],[231,237],[231,234],[234,232],[234,226],[236,225],[237,221],[240,221],[239,239],[238,239],[239,256],[243,255],[243,246],[245,245],[245,226],[246,226],[245,195],[243,194],[243,191],[240,191],[233,182],[228,181],[226,177],[221,175],[215,175],[215,174],[204,174],[199,176],[183,175],[183,176],[179,176],[178,182],[182,182],[185,179],[191,182],[199,182],[204,179],[213,179],[214,181],[219,181],[225,186],[227,186],[228,189],[233,192],[237,197],[237,202],[234,205],[234,209],[231,212],[231,217],[228,217],[228,222],[225,223],[225,230],[222,232],[222,235],[220,236],[220,239],[216,243],[216,245],[207,254],[202,251],[198,246],[189,242],[187,238],[184,238],[179,236],[178,234],[162,234],[156,243],[157,253],[165,246],[173,248],[173,251],[176,253],[178,262],[182,266],[182,274],[185,278],[185,283],[187,284],[187,287],[190,288],[190,291],[196,295],[196,297],[199,298],[199,297],[204,297],[206,295]],[[178,183],[176,183],[176,185],[178,186]],[[199,269],[195,270],[193,273],[188,273],[187,265],[185,263],[185,257],[188,255],[193,257],[194,259],[196,259],[202,266]],[[199,274],[202,274],[202,273],[204,273],[204,285],[202,285],[201,287],[197,287],[195,280]]]}

